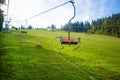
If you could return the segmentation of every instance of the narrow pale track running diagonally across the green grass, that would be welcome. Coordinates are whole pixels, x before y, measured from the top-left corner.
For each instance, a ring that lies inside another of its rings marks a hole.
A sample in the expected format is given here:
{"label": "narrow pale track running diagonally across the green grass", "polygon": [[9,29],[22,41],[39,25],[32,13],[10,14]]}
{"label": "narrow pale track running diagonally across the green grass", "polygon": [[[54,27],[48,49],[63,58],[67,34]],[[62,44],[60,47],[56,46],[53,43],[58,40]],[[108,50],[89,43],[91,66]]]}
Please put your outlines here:
{"label": "narrow pale track running diagonally across the green grass", "polygon": [[69,61],[68,59],[66,59],[64,56],[60,55],[57,51],[56,48],[54,48],[56,55],[59,56],[61,59],[63,59],[64,61],[68,62],[69,64],[71,64],[72,66],[74,66],[76,69],[78,69],[80,72],[82,72],[83,74],[87,75],[91,80],[95,80],[95,78],[91,75],[89,75],[85,70],[81,69],[79,66],[77,66],[76,64],[72,63],[71,61]]}

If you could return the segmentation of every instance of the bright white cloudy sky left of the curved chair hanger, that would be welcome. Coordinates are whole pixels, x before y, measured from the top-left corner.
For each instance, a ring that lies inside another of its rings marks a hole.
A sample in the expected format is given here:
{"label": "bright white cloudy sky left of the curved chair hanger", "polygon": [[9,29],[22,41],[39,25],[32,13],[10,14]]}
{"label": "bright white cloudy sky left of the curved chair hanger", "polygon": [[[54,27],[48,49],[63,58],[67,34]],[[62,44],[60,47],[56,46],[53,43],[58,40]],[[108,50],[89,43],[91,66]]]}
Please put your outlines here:
{"label": "bright white cloudy sky left of the curved chair hanger", "polygon": [[[62,3],[65,3],[66,1],[36,0],[33,2],[33,0],[11,0],[9,17],[12,18],[12,21],[19,22]],[[60,25],[67,23],[71,16],[72,6],[70,4],[66,4],[53,11],[49,11],[45,14],[28,20],[28,24],[31,24],[34,27],[47,27],[48,25],[55,24],[57,27],[60,27]],[[25,25],[25,20],[19,22],[18,24],[20,23]]]}

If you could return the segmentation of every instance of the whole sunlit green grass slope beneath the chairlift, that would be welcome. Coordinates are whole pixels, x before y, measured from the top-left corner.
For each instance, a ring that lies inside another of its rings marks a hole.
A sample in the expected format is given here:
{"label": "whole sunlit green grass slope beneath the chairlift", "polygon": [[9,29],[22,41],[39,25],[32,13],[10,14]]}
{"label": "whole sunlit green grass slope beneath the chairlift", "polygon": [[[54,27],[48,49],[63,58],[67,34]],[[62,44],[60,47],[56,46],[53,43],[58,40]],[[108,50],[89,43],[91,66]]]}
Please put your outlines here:
{"label": "whole sunlit green grass slope beneath the chairlift", "polygon": [[0,80],[119,80],[120,39],[71,33],[80,48],[64,45],[66,32],[29,30],[0,33]]}

